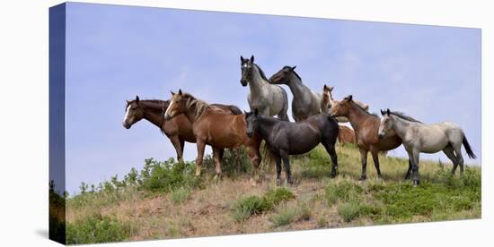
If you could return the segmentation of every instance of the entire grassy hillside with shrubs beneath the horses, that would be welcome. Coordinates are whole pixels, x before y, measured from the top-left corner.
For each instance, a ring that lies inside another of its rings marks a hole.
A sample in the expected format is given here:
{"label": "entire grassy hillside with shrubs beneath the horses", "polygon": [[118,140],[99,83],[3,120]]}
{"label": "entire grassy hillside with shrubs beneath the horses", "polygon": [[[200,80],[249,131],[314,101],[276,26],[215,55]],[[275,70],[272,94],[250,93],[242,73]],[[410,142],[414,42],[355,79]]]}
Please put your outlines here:
{"label": "entire grassy hillside with shrubs beneath the horses", "polygon": [[[122,180],[82,184],[67,200],[67,243],[99,243],[252,234],[347,226],[372,226],[481,217],[481,168],[462,177],[451,166],[423,161],[419,187],[403,179],[408,162],[381,158],[384,179],[376,178],[370,158],[367,181],[357,181],[358,150],[337,148],[340,174],[330,179],[331,159],[318,147],[292,157],[295,185],[277,187],[274,168],[262,167],[262,183],[252,185],[244,153],[226,153],[225,178],[214,181],[211,158],[201,178],[191,162],[146,160]],[[459,174],[459,170],[457,171]]]}

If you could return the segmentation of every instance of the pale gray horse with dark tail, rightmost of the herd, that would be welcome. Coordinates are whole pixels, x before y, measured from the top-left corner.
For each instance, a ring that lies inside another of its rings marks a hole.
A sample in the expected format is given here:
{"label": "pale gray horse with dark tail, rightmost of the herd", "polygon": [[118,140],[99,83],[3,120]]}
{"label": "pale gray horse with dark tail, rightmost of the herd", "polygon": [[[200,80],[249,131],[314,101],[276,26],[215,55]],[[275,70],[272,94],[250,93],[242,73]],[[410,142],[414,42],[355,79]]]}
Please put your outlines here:
{"label": "pale gray horse with dark tail, rightmost of the herd", "polygon": [[453,162],[453,174],[460,165],[463,174],[462,144],[470,158],[476,158],[462,128],[458,124],[442,122],[438,124],[422,124],[410,116],[387,109],[381,111],[383,117],[379,126],[379,137],[392,130],[400,136],[403,146],[411,161],[411,179],[413,185],[419,184],[419,154],[445,152]]}

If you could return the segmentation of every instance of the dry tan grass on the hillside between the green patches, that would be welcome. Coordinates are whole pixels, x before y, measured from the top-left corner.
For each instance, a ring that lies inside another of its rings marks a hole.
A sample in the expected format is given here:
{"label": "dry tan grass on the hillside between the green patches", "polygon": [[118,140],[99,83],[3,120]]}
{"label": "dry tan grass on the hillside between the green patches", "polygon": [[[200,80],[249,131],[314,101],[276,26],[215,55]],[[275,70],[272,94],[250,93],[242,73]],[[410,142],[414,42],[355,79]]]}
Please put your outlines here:
{"label": "dry tan grass on the hillside between the green patches", "polygon": [[[379,180],[369,158],[368,179],[359,182],[357,179],[361,168],[357,149],[338,147],[337,153],[340,170],[335,179],[329,178],[331,161],[321,147],[313,150],[309,156],[291,158],[295,185],[288,189],[295,194],[296,199],[288,200],[275,209],[249,217],[243,222],[237,222],[232,217],[234,203],[245,196],[262,196],[269,189],[276,187],[273,174],[265,173],[262,182],[256,185],[251,183],[250,175],[239,176],[234,180],[225,177],[219,182],[207,183],[206,188],[202,190],[188,191],[185,199],[173,195],[173,192],[146,193],[129,188],[123,192],[125,196],[116,203],[89,201],[76,209],[68,203],[67,221],[75,222],[96,212],[101,216],[116,217],[121,222],[132,223],[134,230],[129,240],[146,240],[481,217],[480,199],[469,209],[447,208],[444,211],[431,211],[429,214],[410,218],[392,218],[376,213],[374,210],[385,208],[383,202],[376,199],[379,188],[410,183],[403,178],[408,167],[407,161],[402,158],[381,158],[384,179]],[[422,161],[421,182],[436,183],[437,172],[440,169],[436,162]],[[449,170],[450,166],[446,165],[445,169]],[[478,173],[480,177],[479,167],[469,169]],[[459,175],[456,175],[454,179],[458,177]],[[370,205],[368,209],[353,209],[352,205],[357,203],[356,201],[338,200],[333,205],[328,204],[325,192],[328,185],[347,182],[362,188],[357,200],[361,205]],[[175,197],[179,197],[180,200]],[[349,210],[351,217],[342,217],[342,210]],[[360,211],[355,213],[354,210]]]}

